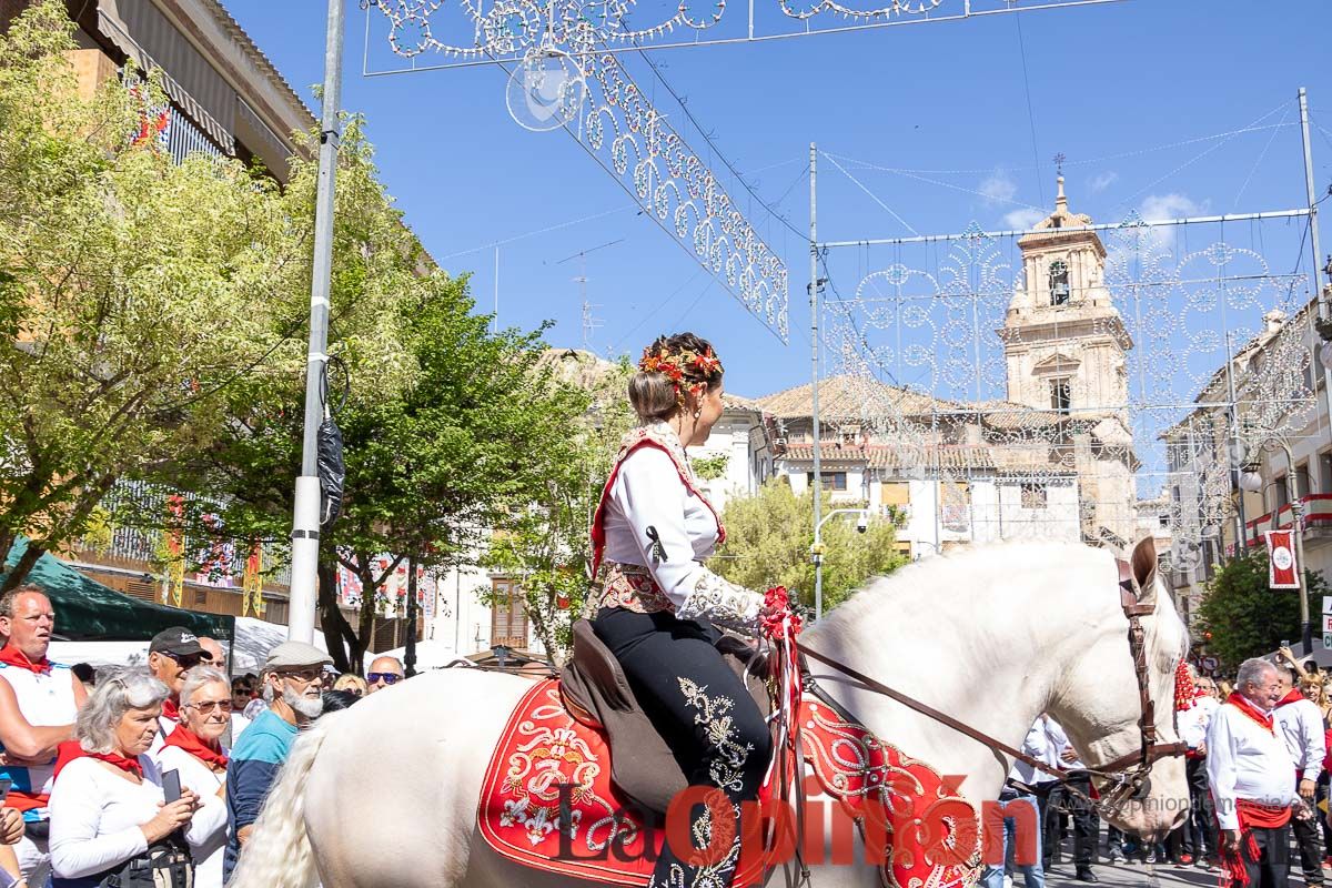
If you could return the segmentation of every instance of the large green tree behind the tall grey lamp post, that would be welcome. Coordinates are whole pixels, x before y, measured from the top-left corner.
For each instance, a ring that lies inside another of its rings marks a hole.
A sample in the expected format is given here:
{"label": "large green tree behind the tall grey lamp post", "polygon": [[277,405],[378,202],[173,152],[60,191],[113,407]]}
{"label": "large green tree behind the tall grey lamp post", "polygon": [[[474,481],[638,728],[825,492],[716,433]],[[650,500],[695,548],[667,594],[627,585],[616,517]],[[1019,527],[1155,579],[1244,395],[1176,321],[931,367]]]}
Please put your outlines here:
{"label": "large green tree behind the tall grey lamp post", "polygon": [[[316,180],[314,161],[293,162],[285,200],[302,241]],[[342,517],[320,537],[320,614],[338,668],[358,670],[384,604],[369,590],[405,559],[476,562],[490,533],[519,522],[542,494],[550,454],[567,446],[583,403],[539,366],[539,330],[493,334],[466,280],[433,266],[380,182],[356,116],[344,120],[336,201],[329,406],[344,437],[346,495]],[[308,260],[305,270],[308,292]],[[273,335],[286,333],[273,324]],[[274,354],[274,371],[228,389],[222,434],[157,477],[204,494],[192,503],[194,534],[209,533],[200,518],[212,510],[224,535],[285,538],[301,462],[304,362],[304,339],[292,338]],[[338,608],[338,566],[366,590],[356,626]]]}

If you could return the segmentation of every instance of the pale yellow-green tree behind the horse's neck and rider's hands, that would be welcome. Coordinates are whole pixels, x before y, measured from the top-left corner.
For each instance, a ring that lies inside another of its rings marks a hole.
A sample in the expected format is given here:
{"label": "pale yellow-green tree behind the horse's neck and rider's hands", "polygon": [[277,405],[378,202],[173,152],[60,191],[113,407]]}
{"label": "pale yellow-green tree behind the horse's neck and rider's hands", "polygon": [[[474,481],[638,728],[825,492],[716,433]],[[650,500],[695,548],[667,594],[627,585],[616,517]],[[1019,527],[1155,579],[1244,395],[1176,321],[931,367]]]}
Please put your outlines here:
{"label": "pale yellow-green tree behind the horse's neck and rider's hands", "polygon": [[[852,503],[855,505],[855,503]],[[838,503],[844,507],[846,503]],[[832,509],[825,493],[822,509]],[[786,586],[798,592],[805,607],[814,606],[814,499],[797,497],[785,478],[763,485],[755,497],[733,499],[722,515],[726,545],[710,564],[726,579],[762,591]],[[896,527],[888,521],[871,519],[860,534],[854,519],[834,518],[823,526],[823,608],[844,602],[867,579],[888,574],[906,563],[894,543]]]}

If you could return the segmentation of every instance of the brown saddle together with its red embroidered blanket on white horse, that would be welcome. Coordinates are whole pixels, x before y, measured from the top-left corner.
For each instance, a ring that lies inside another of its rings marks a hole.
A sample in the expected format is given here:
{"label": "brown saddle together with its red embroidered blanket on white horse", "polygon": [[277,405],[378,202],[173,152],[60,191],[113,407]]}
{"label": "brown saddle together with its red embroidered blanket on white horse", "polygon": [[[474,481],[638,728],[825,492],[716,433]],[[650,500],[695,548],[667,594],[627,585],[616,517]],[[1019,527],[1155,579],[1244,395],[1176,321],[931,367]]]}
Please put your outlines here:
{"label": "brown saddle together with its red embroidered blanket on white horse", "polygon": [[[737,638],[723,636],[717,647],[769,712],[766,683],[757,678],[766,675],[765,658]],[[876,799],[904,828],[899,835],[890,825],[891,849],[880,864],[884,888],[968,888],[976,880],[978,820],[958,795],[955,777],[876,738],[809,679],[791,727],[799,732],[803,763],[783,762],[782,770],[805,768],[802,783],[814,805],[806,823],[822,824],[819,799],[831,800],[834,859],[836,824],[844,824],[847,843],[850,831],[863,835],[863,824],[852,821],[866,799]],[[761,788],[761,807],[786,804],[773,795],[775,783]],[[662,812],[686,788],[679,763],[634,698],[619,662],[581,620],[563,674],[534,682],[510,712],[482,777],[477,828],[492,851],[523,867],[647,888],[666,836],[662,827],[669,825]],[[922,823],[936,828],[922,832]],[[962,860],[956,853],[935,859],[922,844],[927,833],[942,836]],[[787,852],[797,833],[790,835]],[[815,844],[822,848],[822,837],[815,836]],[[822,860],[822,851],[817,856]],[[786,860],[766,847],[742,844],[733,884],[761,885]]]}

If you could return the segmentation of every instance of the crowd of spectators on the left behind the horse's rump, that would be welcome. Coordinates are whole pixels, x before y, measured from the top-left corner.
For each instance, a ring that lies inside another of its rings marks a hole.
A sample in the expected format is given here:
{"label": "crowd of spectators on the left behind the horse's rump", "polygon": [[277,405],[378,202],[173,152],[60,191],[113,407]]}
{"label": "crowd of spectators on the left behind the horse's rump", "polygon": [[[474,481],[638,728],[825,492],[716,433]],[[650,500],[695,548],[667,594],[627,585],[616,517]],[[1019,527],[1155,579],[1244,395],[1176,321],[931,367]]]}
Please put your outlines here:
{"label": "crowd of spectators on the left behind the horse's rump", "polygon": [[284,642],[229,680],[221,644],[178,626],[97,675],[47,659],[55,626],[40,588],[0,596],[0,888],[221,888],[297,732],[405,678]]}

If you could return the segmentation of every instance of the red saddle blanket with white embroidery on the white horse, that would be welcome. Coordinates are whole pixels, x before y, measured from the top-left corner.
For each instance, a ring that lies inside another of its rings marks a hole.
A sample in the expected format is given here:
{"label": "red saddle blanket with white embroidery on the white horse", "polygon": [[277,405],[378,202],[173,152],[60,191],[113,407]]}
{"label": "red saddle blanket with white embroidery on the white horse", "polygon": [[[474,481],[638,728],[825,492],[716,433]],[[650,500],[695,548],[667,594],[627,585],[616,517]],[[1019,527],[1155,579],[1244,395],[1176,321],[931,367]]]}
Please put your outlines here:
{"label": "red saddle blanket with white embroidery on the white horse", "polygon": [[[942,777],[818,700],[801,703],[798,722],[811,771],[801,840],[806,863],[851,863],[868,852],[883,861],[888,888],[964,888],[976,880],[980,831],[975,808],[958,792],[960,777]],[[486,768],[477,809],[481,835],[497,853],[526,867],[646,885],[669,824],[662,829],[618,791],[610,755],[605,734],[565,708],[558,679],[537,682],[509,716]],[[821,795],[832,799],[829,836],[821,828],[827,807]],[[794,856],[795,812],[761,801],[785,841],[770,837],[765,849],[762,840],[750,840],[759,831],[742,827],[735,888],[762,884],[774,865]],[[866,848],[854,848],[855,831]]]}

